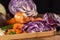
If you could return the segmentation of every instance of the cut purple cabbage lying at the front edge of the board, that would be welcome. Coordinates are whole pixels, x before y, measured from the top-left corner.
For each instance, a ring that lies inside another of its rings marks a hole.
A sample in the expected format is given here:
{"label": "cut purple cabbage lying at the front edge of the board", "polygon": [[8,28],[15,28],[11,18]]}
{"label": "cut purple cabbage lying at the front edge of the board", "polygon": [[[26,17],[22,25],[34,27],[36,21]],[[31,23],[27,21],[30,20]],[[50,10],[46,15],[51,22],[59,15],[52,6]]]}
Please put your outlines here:
{"label": "cut purple cabbage lying at the front edge of the board", "polygon": [[50,31],[53,30],[49,24],[47,24],[45,21],[34,21],[34,22],[28,22],[26,23],[22,30],[26,31],[28,33],[30,32],[43,32],[43,31]]}

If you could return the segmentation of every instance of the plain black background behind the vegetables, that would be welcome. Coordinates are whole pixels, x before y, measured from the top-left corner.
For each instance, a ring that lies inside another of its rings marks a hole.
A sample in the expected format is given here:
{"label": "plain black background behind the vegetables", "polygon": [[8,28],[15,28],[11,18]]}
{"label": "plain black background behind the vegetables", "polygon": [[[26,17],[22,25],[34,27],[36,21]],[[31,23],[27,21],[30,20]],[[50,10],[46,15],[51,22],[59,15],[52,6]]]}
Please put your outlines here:
{"label": "plain black background behind the vegetables", "polygon": [[[60,13],[60,0],[33,0],[37,6],[37,11],[39,13],[45,13],[45,12],[55,12]],[[8,4],[10,0],[0,0],[0,3],[2,3],[6,11],[9,13],[8,10]]]}

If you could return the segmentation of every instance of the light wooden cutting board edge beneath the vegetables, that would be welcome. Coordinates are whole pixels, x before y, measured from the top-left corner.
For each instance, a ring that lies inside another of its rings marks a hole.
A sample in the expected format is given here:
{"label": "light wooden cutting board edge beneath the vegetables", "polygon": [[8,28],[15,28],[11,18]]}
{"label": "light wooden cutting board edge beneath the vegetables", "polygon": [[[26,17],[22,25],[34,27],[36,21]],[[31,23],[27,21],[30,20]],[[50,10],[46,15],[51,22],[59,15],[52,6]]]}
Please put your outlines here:
{"label": "light wooden cutting board edge beneath the vegetables", "polygon": [[46,31],[46,32],[36,32],[36,33],[26,33],[26,34],[15,34],[15,35],[3,35],[0,36],[0,40],[19,40],[19,39],[30,39],[30,38],[41,38],[54,36],[56,34],[56,30]]}

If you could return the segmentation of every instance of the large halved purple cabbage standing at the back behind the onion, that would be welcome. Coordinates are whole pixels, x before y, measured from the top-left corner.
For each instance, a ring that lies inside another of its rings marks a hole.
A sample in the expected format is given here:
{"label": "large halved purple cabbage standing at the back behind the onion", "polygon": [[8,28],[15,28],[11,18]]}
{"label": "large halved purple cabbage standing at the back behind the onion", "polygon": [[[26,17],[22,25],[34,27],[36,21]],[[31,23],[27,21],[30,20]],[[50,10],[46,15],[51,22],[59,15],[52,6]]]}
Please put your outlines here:
{"label": "large halved purple cabbage standing at the back behind the onion", "polygon": [[9,10],[13,15],[20,11],[27,14],[27,16],[37,16],[38,14],[33,0],[11,0]]}

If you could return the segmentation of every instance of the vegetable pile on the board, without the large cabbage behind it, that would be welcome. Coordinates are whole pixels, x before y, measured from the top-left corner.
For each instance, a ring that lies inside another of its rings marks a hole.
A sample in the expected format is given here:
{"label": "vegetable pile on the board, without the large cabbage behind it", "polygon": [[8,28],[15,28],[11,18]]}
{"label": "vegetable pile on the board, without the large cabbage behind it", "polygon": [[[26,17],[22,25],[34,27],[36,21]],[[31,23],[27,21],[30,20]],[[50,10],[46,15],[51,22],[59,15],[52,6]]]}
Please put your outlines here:
{"label": "vegetable pile on the board, without the large cabbage behind it", "polygon": [[12,35],[55,30],[59,26],[59,21],[54,13],[45,13],[41,18],[27,17],[24,12],[17,12],[13,18],[6,21],[6,24],[7,26],[1,29],[5,31],[5,35]]}

